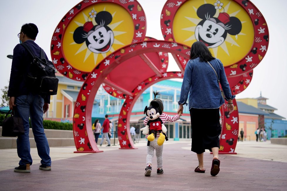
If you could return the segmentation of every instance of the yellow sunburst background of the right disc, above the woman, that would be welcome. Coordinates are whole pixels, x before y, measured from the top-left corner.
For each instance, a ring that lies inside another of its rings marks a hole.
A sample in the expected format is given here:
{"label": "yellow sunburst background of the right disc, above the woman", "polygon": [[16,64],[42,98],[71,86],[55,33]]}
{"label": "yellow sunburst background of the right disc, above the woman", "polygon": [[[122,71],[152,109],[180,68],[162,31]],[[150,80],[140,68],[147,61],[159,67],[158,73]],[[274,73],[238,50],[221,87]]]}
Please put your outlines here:
{"label": "yellow sunburst background of the right disc, above the woman", "polygon": [[[175,13],[173,20],[173,36],[176,42],[191,46],[196,41],[194,31],[197,24],[202,21],[197,9],[203,4],[216,3],[217,0],[190,0],[186,1]],[[242,23],[242,30],[238,35],[229,35],[218,47],[210,48],[213,56],[221,60],[224,66],[230,66],[246,56],[254,41],[254,27],[248,13],[234,1],[221,0],[221,9],[217,9],[215,16],[226,12],[229,16],[237,17]]]}

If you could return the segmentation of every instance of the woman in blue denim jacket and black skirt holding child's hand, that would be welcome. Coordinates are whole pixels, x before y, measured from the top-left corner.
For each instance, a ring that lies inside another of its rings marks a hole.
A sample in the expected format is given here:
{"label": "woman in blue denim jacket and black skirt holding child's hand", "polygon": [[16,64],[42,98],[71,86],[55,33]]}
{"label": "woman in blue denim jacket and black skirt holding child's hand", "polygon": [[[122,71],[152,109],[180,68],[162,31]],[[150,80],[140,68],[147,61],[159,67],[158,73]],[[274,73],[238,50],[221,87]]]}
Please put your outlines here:
{"label": "woman in blue denim jacket and black skirt holding child's hand", "polygon": [[198,166],[195,172],[204,173],[203,153],[209,149],[213,154],[210,174],[219,173],[220,160],[219,135],[221,133],[219,107],[224,104],[219,82],[228,100],[229,115],[234,106],[231,90],[225,75],[223,64],[219,59],[212,57],[209,49],[203,42],[194,42],[190,50],[190,60],[185,66],[183,83],[181,86],[178,113],[183,112],[189,96],[189,111],[192,128],[191,151],[197,154]]}

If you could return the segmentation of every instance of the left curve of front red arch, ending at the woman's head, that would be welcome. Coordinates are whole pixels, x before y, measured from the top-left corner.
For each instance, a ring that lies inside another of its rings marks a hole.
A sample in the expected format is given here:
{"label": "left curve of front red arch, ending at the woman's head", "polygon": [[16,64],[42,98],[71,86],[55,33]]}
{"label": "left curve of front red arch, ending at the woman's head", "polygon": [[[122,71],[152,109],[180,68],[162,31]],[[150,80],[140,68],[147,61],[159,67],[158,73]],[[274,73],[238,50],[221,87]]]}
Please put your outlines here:
{"label": "left curve of front red arch, ending at the woman's head", "polygon": [[[99,63],[97,67],[95,67],[94,70],[89,74],[84,83],[85,86],[83,85],[81,91],[79,92],[74,110],[73,124],[75,146],[77,151],[99,152],[99,149],[94,141],[94,135],[91,128],[92,122],[90,116],[92,112],[92,103],[100,84],[112,71],[112,69],[131,57],[148,52],[171,52],[173,54],[182,56],[190,54],[190,50],[183,49],[183,45],[181,44],[158,40],[138,42],[125,46],[122,49],[125,51],[117,50]],[[104,64],[104,62],[107,62],[107,60],[109,64]],[[146,62],[148,62],[148,60],[146,60]],[[130,135],[125,134],[125,136],[126,138],[122,139],[121,141],[127,140]]]}

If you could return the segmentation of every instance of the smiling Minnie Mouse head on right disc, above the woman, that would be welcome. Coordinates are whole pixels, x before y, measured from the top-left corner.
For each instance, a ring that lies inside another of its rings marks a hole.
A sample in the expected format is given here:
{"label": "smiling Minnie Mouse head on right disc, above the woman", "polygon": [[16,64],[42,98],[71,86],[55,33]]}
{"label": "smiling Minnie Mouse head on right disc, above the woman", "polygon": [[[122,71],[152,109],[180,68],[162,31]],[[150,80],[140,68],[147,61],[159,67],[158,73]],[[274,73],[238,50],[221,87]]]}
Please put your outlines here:
{"label": "smiling Minnie Mouse head on right disc, above the woman", "polygon": [[197,16],[202,19],[195,28],[195,38],[202,41],[208,48],[220,46],[227,33],[237,35],[242,29],[241,21],[236,17],[230,17],[227,13],[219,13],[213,17],[216,7],[212,4],[204,4],[197,9]]}

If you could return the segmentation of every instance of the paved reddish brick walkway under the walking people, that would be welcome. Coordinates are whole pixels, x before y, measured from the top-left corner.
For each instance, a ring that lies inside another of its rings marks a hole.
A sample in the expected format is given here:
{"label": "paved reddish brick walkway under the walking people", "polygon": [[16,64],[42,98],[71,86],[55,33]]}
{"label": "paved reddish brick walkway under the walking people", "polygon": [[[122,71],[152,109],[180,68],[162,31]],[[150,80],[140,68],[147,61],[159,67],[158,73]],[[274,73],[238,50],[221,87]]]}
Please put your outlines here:
{"label": "paved reddish brick walkway under the walking people", "polygon": [[[31,173],[2,170],[0,190],[287,190],[287,163],[280,162],[280,157],[271,161],[268,158],[252,158],[250,154],[246,157],[240,157],[244,154],[220,155],[220,173],[213,177],[210,175],[212,155],[209,152],[204,155],[206,172],[195,173],[193,170],[198,162],[196,154],[190,151],[190,142],[168,141],[163,151],[164,173],[156,174],[154,156],[152,174],[145,177],[146,146],[144,141],[137,145],[138,149],[103,147],[102,153],[77,154],[54,160],[51,171],[39,170],[39,164],[31,166]],[[244,142],[238,143],[239,151],[242,145]],[[274,155],[286,154],[287,151],[287,146],[272,145],[270,142],[257,147],[256,150],[262,149],[260,147],[266,150],[273,148]],[[0,155],[3,150],[0,150]]]}

